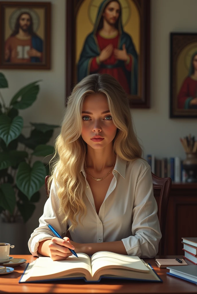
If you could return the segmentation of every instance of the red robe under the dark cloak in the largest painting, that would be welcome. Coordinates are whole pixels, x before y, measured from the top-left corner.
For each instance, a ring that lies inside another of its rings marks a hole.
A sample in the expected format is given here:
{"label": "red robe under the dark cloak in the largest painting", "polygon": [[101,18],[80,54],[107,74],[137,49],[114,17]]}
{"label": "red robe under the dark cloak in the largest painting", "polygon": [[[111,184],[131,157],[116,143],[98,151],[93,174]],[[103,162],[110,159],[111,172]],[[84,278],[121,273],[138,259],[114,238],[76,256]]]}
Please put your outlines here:
{"label": "red robe under the dark cloak in the largest painting", "polygon": [[[98,32],[96,33],[96,38],[98,40],[98,45],[100,47],[100,50],[102,51],[106,46],[109,44],[112,44],[114,48],[118,48],[118,39],[119,39],[119,34],[113,38],[113,39],[106,39],[101,37]],[[131,65],[132,65],[132,59],[131,56],[129,56],[130,61],[128,64],[125,63],[125,68],[128,71],[131,71]],[[114,57],[114,54],[112,55],[105,61],[103,61],[103,64],[115,64],[117,59]],[[93,72],[98,72],[99,74],[110,74],[116,80],[120,83],[120,85],[124,88],[125,92],[130,94],[130,88],[128,85],[127,78],[125,76],[124,70],[122,67],[115,67],[113,69],[106,69],[106,68],[100,68],[100,65],[97,64],[96,62],[96,57],[93,58],[90,66],[90,73]]]}

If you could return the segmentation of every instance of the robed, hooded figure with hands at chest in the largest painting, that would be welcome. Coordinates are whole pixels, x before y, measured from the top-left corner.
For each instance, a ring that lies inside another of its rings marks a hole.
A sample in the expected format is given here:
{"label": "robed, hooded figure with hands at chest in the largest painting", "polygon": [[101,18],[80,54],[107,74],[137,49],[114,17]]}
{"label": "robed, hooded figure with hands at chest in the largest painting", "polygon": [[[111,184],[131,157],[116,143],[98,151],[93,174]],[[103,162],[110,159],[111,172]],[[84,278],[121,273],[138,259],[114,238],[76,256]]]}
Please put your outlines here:
{"label": "robed, hooded figure with hands at chest in the largest painting", "polygon": [[127,94],[137,95],[137,52],[131,37],[123,31],[121,6],[104,0],[94,31],[84,43],[78,63],[78,82],[92,73],[110,74]]}

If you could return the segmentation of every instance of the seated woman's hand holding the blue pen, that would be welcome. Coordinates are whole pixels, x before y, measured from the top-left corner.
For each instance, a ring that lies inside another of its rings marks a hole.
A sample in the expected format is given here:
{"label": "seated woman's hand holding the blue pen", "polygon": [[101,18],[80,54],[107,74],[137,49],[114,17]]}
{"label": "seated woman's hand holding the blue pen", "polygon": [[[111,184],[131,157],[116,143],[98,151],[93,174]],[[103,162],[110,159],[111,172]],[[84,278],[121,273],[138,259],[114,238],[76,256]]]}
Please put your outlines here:
{"label": "seated woman's hand holding the blue pen", "polygon": [[64,237],[64,239],[53,237],[48,246],[52,260],[64,260],[72,255],[68,248],[74,250],[74,246],[70,243],[68,237]]}

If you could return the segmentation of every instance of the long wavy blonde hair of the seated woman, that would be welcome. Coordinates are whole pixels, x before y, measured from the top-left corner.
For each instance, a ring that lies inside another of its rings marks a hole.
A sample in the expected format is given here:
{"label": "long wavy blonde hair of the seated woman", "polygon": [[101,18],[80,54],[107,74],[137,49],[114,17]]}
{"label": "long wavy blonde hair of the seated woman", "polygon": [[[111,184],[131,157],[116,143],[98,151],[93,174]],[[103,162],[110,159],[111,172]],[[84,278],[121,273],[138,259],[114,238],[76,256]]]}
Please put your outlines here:
{"label": "long wavy blonde hair of the seated woman", "polygon": [[81,164],[87,152],[87,143],[81,137],[82,106],[88,95],[103,94],[108,101],[113,123],[117,127],[113,139],[113,153],[121,159],[132,161],[142,158],[143,147],[137,140],[129,101],[124,89],[115,78],[108,74],[91,74],[80,81],[68,97],[67,107],[61,124],[60,135],[55,140],[55,155],[50,161],[51,176],[48,188],[54,179],[59,188],[57,196],[60,200],[58,214],[63,216],[62,223],[72,225],[68,230],[74,231],[77,226],[76,216],[86,216],[86,182],[80,172]]}

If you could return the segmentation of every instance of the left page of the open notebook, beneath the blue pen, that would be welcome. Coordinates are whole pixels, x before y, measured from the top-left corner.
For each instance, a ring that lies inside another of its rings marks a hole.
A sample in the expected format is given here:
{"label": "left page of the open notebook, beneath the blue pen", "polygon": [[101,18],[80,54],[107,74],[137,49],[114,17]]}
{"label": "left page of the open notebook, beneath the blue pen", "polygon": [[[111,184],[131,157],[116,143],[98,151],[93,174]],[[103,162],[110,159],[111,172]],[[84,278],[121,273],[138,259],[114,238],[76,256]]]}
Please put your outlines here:
{"label": "left page of the open notebook, beneath the blue pen", "polygon": [[[43,280],[65,276],[65,270],[68,274],[83,272],[81,269],[89,271],[91,275],[90,258],[85,253],[77,253],[78,257],[72,255],[65,260],[52,260],[50,257],[39,257],[32,268],[28,271],[27,278],[25,274],[21,282],[29,280]],[[64,274],[62,273],[64,272]],[[84,271],[86,273],[86,271]]]}

